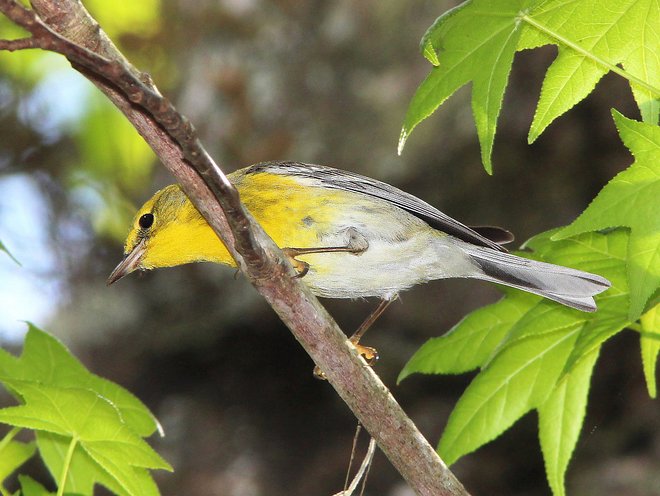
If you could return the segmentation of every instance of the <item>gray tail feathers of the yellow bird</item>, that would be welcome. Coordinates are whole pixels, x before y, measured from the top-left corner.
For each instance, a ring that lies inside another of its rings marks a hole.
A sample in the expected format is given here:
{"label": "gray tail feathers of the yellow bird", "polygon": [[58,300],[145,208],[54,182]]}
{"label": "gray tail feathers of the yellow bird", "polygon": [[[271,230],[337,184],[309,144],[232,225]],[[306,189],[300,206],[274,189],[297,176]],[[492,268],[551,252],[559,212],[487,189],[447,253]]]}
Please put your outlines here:
{"label": "gray tail feathers of the yellow bird", "polygon": [[604,277],[589,272],[476,246],[464,249],[482,272],[473,277],[522,289],[584,312],[595,311],[593,296],[611,286]]}

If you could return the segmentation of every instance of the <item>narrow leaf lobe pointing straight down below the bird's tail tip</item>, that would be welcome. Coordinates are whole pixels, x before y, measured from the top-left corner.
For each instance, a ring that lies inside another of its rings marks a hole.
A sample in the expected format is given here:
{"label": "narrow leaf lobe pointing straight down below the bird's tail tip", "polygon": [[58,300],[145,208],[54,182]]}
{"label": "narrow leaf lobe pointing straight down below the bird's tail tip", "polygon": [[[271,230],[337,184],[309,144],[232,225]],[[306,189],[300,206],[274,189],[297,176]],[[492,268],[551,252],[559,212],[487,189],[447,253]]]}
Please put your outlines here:
{"label": "narrow leaf lobe pointing straight down below the bird's tail tip", "polygon": [[545,403],[539,406],[539,438],[548,483],[555,496],[564,496],[564,476],[577,444],[587,409],[591,374],[598,350],[559,381]]}

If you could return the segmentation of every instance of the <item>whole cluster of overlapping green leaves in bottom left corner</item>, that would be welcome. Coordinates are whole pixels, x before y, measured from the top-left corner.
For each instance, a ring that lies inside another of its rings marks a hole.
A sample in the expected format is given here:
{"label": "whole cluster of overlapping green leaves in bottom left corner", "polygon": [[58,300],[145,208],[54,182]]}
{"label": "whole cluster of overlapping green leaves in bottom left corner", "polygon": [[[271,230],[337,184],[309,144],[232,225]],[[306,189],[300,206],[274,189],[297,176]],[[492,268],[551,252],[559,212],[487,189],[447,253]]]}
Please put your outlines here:
{"label": "whole cluster of overlapping green leaves in bottom left corner", "polygon": [[[158,494],[149,470],[171,467],[142,439],[157,429],[154,416],[53,337],[31,325],[19,358],[0,349],[0,382],[20,403],[0,410],[0,422],[37,433],[58,494],[93,494],[96,483],[118,495]],[[10,469],[23,458],[10,457]]]}

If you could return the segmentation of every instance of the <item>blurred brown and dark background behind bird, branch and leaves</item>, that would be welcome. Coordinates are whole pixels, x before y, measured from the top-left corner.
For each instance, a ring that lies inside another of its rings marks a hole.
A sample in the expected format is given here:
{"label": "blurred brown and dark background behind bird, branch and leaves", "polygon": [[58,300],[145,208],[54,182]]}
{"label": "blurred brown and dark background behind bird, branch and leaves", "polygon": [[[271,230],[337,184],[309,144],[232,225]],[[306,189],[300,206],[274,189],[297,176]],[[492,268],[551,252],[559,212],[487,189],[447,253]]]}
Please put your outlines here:
{"label": "blurred brown and dark background behind bird, branch and leaves", "polygon": [[[483,171],[468,92],[460,91],[396,155],[406,106],[430,67],[426,28],[454,3],[396,0],[86,1],[101,26],[196,125],[226,171],[294,159],[399,186],[468,224],[521,243],[572,221],[631,163],[610,106],[637,118],[624,81],[596,93],[532,146],[527,130],[552,48],[518,54]],[[2,37],[20,36],[0,21]],[[241,277],[197,264],[106,287],[134,209],[172,181],[96,90],[54,55],[0,53],[0,337],[20,347],[34,320],[92,371],[156,413],[157,449],[175,467],[163,494],[310,495],[341,489],[355,421],[273,312]],[[468,377],[395,378],[426,339],[498,298],[441,281],[404,294],[367,335],[393,388],[437,442]],[[347,332],[374,302],[326,301]],[[660,492],[660,416],[637,337],[604,347],[568,475],[581,495]],[[0,397],[9,401],[8,398]],[[473,494],[548,494],[528,415],[455,467]],[[34,462],[31,470],[42,471]],[[412,494],[376,456],[367,494]]]}

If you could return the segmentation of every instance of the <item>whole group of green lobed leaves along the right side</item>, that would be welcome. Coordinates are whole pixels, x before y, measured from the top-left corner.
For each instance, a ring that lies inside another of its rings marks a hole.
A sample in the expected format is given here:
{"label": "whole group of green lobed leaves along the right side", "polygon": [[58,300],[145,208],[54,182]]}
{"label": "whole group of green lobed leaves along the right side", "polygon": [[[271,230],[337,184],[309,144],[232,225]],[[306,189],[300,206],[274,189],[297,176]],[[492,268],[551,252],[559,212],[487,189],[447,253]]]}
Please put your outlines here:
{"label": "whole group of green lobed leaves along the right side", "polygon": [[[613,111],[635,161],[570,226],[526,244],[531,256],[601,274],[612,287],[598,311],[580,313],[506,290],[428,341],[401,372],[457,374],[480,369],[451,413],[439,443],[444,459],[495,439],[537,410],[548,482],[564,495],[564,478],[587,408],[600,348],[629,327],[640,332],[644,375],[656,396],[660,353],[660,9],[653,0],[474,0],[445,13],[422,39],[435,66],[408,109],[399,149],[412,130],[458,88],[472,82],[472,110],[486,170],[516,51],[558,47],[532,123],[535,140],[612,71],[631,86],[644,122]],[[599,231],[599,232],[598,232]],[[646,311],[646,313],[644,313]],[[643,315],[642,315],[643,314]],[[640,319],[641,316],[641,319]],[[636,320],[640,319],[637,323]]]}

